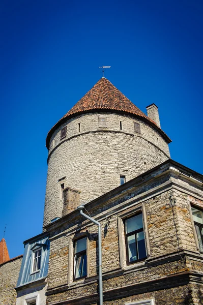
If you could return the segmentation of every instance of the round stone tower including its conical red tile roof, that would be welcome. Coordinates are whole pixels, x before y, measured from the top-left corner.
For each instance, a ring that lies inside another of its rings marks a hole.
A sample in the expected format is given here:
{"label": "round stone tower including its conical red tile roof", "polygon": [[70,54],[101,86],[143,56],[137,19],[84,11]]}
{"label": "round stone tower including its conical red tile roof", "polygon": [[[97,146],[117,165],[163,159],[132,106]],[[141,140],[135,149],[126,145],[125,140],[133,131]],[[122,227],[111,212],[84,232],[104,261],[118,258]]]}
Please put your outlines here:
{"label": "round stone tower including its conical red tile roof", "polygon": [[169,159],[157,120],[102,77],[48,132],[43,225],[62,217],[67,188],[84,204]]}

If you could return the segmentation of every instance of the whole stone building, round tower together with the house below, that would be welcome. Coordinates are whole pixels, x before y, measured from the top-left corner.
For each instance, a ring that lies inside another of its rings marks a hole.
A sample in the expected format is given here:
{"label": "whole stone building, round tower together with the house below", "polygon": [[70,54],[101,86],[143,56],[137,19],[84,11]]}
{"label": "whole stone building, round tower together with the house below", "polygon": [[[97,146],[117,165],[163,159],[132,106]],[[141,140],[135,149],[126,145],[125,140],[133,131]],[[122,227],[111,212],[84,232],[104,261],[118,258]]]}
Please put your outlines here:
{"label": "whole stone building, round tower together with the house below", "polygon": [[98,223],[105,305],[203,303],[203,176],[170,159],[147,113],[102,77],[48,132],[43,233],[24,242],[17,305],[100,304]]}

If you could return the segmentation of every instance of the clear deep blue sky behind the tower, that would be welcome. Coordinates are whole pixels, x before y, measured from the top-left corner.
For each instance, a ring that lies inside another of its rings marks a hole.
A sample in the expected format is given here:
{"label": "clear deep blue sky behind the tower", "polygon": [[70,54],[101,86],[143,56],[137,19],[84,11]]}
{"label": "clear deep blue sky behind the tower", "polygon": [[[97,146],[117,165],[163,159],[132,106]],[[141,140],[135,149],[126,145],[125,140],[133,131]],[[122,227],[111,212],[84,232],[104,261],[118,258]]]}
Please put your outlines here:
{"label": "clear deep blue sky behind the tower", "polygon": [[11,257],[41,233],[49,129],[102,76],[159,107],[171,158],[203,173],[202,1],[0,2],[1,214]]}

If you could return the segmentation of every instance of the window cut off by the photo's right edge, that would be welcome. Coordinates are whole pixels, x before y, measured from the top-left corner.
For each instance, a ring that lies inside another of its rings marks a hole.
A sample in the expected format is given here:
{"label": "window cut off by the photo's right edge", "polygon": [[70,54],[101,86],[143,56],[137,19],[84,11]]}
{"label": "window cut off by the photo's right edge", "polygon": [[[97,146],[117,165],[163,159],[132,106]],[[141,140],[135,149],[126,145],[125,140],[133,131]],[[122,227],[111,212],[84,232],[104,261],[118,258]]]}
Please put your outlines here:
{"label": "window cut off by the photo's right edge", "polygon": [[199,251],[203,252],[203,211],[191,206],[194,226],[199,241]]}

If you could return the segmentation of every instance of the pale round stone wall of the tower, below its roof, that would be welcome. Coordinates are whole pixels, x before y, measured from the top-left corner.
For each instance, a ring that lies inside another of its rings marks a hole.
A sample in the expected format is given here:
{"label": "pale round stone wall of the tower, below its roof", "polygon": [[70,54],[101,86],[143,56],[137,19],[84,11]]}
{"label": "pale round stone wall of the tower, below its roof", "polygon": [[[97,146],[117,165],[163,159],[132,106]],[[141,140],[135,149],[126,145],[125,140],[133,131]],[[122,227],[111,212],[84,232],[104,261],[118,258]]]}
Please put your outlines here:
{"label": "pale round stone wall of the tower, below its roof", "polygon": [[62,184],[81,191],[84,204],[120,186],[120,175],[131,180],[169,158],[162,135],[133,116],[86,113],[67,120],[50,139],[43,225],[62,217]]}

